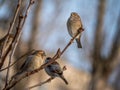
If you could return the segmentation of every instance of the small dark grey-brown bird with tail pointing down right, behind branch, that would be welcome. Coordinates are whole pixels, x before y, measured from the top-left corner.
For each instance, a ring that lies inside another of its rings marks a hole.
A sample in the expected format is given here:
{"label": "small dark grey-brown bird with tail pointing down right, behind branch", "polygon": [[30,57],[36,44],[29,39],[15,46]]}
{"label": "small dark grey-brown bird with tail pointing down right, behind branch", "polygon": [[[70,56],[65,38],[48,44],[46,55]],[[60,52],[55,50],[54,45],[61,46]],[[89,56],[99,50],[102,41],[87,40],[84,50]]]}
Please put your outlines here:
{"label": "small dark grey-brown bird with tail pointing down right, behind branch", "polygon": [[[50,62],[51,59],[51,57],[47,57],[45,63]],[[60,77],[65,82],[65,84],[68,84],[67,80],[63,76],[63,70],[61,69],[58,62],[54,61],[52,64],[46,66],[45,71],[52,78]]]}

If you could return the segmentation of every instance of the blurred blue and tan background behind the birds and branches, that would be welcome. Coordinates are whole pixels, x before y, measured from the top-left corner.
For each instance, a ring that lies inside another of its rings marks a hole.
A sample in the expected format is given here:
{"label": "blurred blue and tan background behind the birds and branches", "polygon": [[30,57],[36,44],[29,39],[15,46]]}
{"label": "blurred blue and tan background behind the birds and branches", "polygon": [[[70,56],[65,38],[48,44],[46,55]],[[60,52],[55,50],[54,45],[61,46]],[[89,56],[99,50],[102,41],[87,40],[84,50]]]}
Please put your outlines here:
{"label": "blurred blue and tan background behind the birds and branches", "polygon": [[[120,90],[120,1],[119,0],[35,0],[25,22],[21,40],[14,55],[20,57],[32,49],[42,49],[54,56],[58,48],[67,45],[71,37],[66,22],[71,12],[82,20],[82,49],[74,41],[58,60],[66,66],[64,76],[69,82],[56,78],[33,90]],[[24,12],[29,0],[22,1]],[[8,31],[18,0],[0,0],[0,37]],[[16,29],[17,21],[14,29]],[[24,60],[11,68],[13,75]],[[7,65],[7,60],[3,68]],[[6,71],[0,72],[0,89]],[[13,90],[45,81],[44,70],[18,83]],[[29,82],[28,82],[29,81]]]}

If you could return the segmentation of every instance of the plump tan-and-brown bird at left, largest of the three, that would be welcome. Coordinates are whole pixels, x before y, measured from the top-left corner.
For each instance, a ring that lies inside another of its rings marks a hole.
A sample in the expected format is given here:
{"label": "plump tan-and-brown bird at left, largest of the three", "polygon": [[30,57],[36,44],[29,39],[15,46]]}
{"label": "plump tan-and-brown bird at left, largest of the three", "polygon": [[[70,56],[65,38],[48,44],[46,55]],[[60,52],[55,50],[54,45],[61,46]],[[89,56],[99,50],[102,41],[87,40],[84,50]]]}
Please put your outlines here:
{"label": "plump tan-and-brown bird at left, largest of the three", "polygon": [[25,72],[33,71],[39,68],[46,59],[46,54],[43,50],[36,50],[32,54],[30,54],[25,62],[20,67],[20,71],[18,71],[12,78],[17,78]]}

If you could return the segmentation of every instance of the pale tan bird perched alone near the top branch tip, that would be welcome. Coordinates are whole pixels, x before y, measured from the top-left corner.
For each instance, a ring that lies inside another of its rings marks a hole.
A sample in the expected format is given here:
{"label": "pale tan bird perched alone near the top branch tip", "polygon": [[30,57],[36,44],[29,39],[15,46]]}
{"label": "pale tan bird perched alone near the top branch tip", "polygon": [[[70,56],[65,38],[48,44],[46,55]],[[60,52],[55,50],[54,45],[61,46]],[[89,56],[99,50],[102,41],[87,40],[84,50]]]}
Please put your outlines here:
{"label": "pale tan bird perched alone near the top branch tip", "polygon": [[[80,16],[76,12],[72,12],[70,17],[68,18],[67,29],[71,37],[74,37],[78,33],[78,30],[83,31],[82,21],[80,19]],[[80,37],[81,33],[76,37],[78,48],[82,48]]]}

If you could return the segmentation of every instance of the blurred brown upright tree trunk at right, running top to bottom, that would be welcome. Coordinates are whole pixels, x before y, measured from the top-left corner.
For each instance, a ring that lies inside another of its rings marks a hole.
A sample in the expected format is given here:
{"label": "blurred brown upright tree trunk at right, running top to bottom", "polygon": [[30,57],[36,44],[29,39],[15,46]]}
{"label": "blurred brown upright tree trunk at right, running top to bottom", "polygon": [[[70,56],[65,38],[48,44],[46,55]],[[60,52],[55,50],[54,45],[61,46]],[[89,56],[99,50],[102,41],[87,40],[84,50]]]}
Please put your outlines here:
{"label": "blurred brown upright tree trunk at right, running top to bottom", "polygon": [[[104,21],[104,12],[105,12],[105,4],[106,0],[99,0],[98,1],[98,13],[97,13],[97,25],[95,27],[95,39],[94,39],[94,48],[93,48],[93,53],[92,53],[92,77],[91,77],[91,83],[90,83],[90,90],[96,90],[96,82],[97,79],[99,78],[99,73],[101,71],[99,70],[100,66],[102,65],[102,60],[101,60],[101,48],[102,48],[102,43],[103,43],[103,21]],[[102,66],[101,66],[102,67]]]}

